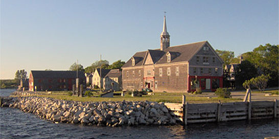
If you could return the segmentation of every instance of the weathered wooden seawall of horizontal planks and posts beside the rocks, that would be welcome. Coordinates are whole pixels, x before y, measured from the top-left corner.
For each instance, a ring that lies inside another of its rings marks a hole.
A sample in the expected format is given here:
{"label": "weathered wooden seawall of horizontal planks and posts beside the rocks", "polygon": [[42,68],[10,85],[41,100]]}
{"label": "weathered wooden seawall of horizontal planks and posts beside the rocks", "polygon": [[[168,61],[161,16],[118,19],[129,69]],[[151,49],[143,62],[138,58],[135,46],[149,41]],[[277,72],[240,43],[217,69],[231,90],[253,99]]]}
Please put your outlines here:
{"label": "weathered wooden seawall of horizontal planks and posts beside the rocks", "polygon": [[[248,91],[247,91],[248,92]],[[165,103],[177,122],[187,125],[200,122],[222,122],[244,119],[278,118],[279,103],[274,101],[251,101],[248,92],[248,102],[189,104],[182,95],[182,103]]]}

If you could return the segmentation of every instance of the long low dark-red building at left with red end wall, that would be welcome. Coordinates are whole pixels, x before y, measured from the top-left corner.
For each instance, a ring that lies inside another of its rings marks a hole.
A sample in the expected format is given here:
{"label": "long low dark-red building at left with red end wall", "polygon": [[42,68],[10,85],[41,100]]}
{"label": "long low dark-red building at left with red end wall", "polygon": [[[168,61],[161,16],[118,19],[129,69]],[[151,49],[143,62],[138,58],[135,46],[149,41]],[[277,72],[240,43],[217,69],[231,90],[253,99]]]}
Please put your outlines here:
{"label": "long low dark-red building at left with red end wall", "polygon": [[[31,70],[29,91],[63,91],[73,90],[76,85],[77,71],[38,71]],[[83,71],[78,72],[80,85],[86,87]]]}

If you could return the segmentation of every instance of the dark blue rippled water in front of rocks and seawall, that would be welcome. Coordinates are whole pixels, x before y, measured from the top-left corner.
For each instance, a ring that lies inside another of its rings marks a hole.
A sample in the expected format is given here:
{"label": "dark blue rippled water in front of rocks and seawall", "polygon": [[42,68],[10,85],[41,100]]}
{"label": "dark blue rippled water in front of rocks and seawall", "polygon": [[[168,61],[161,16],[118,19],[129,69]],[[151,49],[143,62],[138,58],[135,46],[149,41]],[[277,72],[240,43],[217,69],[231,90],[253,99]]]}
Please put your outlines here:
{"label": "dark blue rippled water in front of rocks and seawall", "polygon": [[[14,90],[0,90],[9,96]],[[0,138],[264,138],[278,136],[278,121],[234,121],[182,126],[98,127],[55,124],[21,112],[0,108]]]}

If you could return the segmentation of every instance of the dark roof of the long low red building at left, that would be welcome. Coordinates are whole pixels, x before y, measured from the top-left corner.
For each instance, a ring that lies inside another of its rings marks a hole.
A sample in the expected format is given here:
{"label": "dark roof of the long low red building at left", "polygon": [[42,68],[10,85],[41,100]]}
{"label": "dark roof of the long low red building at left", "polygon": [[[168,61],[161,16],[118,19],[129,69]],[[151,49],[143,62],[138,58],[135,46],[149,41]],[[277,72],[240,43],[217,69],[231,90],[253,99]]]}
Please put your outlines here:
{"label": "dark roof of the long low red building at left", "polygon": [[[33,78],[77,78],[77,71],[69,70],[31,70]],[[83,71],[78,71],[79,78],[85,78]]]}

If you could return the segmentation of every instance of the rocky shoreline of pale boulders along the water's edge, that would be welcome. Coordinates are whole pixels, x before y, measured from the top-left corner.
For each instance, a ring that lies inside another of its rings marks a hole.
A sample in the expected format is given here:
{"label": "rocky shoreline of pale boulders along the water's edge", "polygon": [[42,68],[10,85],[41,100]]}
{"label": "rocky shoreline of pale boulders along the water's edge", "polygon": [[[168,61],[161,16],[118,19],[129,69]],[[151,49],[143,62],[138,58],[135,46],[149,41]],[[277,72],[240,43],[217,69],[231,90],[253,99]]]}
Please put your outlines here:
{"label": "rocky shoreline of pale boulders along the water's edge", "polygon": [[56,123],[112,127],[176,124],[164,102],[77,102],[29,96],[1,98],[0,104]]}

